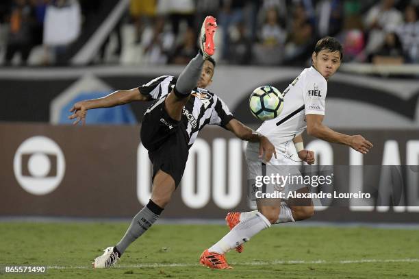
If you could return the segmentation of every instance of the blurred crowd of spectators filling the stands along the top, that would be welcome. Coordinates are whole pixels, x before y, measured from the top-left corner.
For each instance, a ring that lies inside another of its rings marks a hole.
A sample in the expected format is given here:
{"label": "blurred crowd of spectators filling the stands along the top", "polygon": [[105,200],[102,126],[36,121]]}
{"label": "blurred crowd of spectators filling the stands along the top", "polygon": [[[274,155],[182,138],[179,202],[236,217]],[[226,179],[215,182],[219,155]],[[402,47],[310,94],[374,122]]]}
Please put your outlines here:
{"label": "blurred crowd of spectators filling the stands along the top", "polygon": [[[66,64],[60,58],[104,2],[1,1],[0,61],[27,64],[33,55],[29,64]],[[326,35],[343,43],[345,62],[419,63],[418,7],[419,0],[131,0],[94,62],[186,64],[212,14],[225,64],[305,64]]]}

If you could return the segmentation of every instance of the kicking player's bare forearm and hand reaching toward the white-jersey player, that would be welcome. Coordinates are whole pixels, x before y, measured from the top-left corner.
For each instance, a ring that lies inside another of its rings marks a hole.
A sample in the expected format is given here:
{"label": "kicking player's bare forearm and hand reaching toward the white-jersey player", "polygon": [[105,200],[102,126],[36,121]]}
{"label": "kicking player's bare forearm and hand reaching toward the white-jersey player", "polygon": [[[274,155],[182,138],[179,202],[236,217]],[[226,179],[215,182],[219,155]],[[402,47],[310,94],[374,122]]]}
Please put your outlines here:
{"label": "kicking player's bare forearm and hand reaching toward the white-jersey player", "polygon": [[266,162],[270,161],[272,155],[277,158],[275,146],[270,143],[266,136],[253,131],[237,119],[231,119],[225,127],[243,141],[259,143],[259,158],[262,158],[264,154],[264,160],[266,160]]}

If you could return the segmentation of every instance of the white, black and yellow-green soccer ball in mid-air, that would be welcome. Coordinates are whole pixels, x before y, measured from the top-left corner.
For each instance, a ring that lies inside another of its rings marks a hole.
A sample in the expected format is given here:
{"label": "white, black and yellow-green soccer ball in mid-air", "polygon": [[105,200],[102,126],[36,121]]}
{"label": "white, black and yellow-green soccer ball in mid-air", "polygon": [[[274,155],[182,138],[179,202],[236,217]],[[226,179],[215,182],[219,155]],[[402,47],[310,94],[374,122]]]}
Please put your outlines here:
{"label": "white, black and yellow-green soccer ball in mid-air", "polygon": [[283,109],[282,93],[270,85],[260,86],[253,90],[249,98],[249,107],[257,119],[274,119]]}

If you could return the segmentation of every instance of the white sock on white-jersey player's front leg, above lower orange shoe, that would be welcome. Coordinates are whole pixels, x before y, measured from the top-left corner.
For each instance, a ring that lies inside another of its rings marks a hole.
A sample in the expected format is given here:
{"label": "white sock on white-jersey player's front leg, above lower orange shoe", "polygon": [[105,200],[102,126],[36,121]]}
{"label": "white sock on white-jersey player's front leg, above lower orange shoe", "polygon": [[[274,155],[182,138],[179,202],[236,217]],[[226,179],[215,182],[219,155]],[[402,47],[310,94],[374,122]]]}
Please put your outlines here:
{"label": "white sock on white-jersey player's front leg, above lower orange shoe", "polygon": [[256,213],[253,217],[240,221],[236,227],[233,228],[228,234],[226,234],[220,241],[212,245],[209,252],[215,252],[218,254],[225,254],[229,250],[238,247],[238,245],[249,241],[252,236],[270,227],[270,221],[262,215],[262,213]]}

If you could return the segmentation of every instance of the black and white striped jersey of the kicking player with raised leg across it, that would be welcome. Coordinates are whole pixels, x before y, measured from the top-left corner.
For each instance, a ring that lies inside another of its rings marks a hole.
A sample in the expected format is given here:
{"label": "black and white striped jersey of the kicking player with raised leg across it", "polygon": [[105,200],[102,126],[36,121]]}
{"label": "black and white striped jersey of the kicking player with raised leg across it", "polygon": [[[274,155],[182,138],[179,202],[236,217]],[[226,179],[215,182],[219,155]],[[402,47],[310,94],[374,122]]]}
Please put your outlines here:
{"label": "black and white striped jersey of the kicking player with raised leg across it", "polygon": [[[163,75],[139,86],[138,89],[142,95],[147,95],[150,101],[155,100],[145,114],[149,113],[157,102],[162,101],[175,84],[176,77]],[[183,108],[179,129],[182,129],[188,136],[188,145],[191,147],[205,125],[220,125],[225,128],[231,119],[233,119],[233,114],[220,97],[203,88],[195,88]]]}

